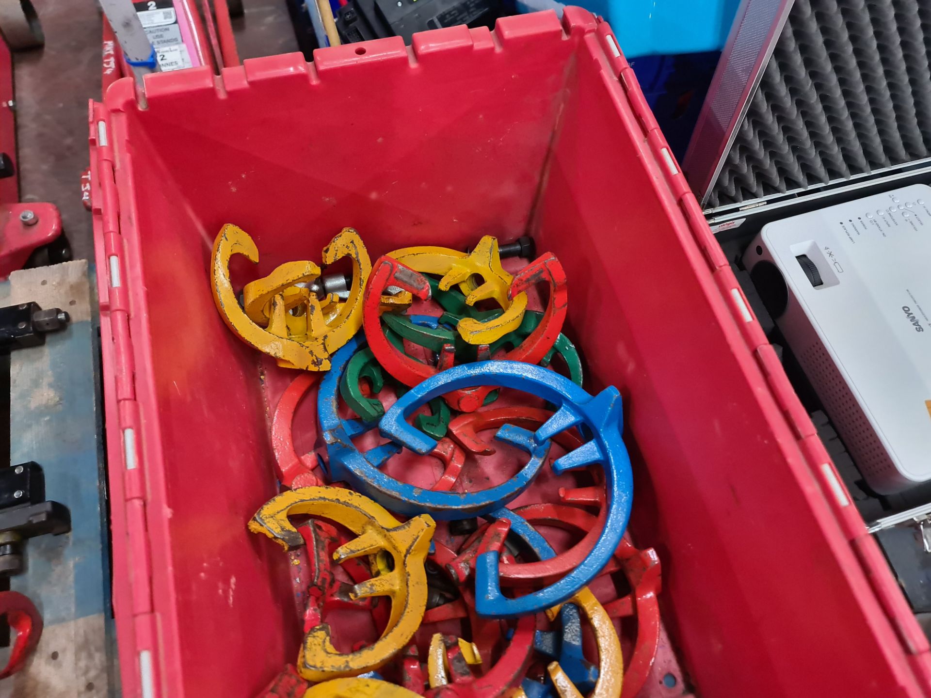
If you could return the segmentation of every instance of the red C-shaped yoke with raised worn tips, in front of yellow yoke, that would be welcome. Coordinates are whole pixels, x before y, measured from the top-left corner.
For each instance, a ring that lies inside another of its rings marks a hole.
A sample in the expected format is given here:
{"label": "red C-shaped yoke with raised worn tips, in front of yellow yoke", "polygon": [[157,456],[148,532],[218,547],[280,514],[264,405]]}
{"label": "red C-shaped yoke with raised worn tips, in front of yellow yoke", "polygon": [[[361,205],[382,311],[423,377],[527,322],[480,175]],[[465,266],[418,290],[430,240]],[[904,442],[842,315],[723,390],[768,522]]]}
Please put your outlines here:
{"label": "red C-shaped yoke with raised worn tips, in front of yellow yoke", "polygon": [[[524,361],[538,364],[556,342],[560,329],[566,316],[566,276],[560,262],[551,254],[545,254],[524,267],[514,277],[510,294],[515,296],[523,293],[534,284],[547,282],[549,284],[549,300],[546,312],[540,324],[520,345],[508,352],[502,358],[505,360]],[[449,369],[455,362],[455,346],[444,344],[439,352],[437,366],[429,366],[417,361],[411,356],[398,352],[391,342],[385,339],[382,323],[378,316],[379,299],[388,286],[397,286],[400,289],[411,291],[421,299],[429,297],[430,287],[425,277],[400,262],[389,257],[381,257],[372,270],[369,285],[366,287],[364,301],[363,327],[365,336],[369,341],[371,350],[379,363],[388,373],[398,381],[409,386],[417,385],[443,369]],[[487,356],[482,350],[481,356]],[[477,383],[469,387],[453,389],[443,396],[453,409],[462,412],[471,412],[482,405],[494,385]]]}

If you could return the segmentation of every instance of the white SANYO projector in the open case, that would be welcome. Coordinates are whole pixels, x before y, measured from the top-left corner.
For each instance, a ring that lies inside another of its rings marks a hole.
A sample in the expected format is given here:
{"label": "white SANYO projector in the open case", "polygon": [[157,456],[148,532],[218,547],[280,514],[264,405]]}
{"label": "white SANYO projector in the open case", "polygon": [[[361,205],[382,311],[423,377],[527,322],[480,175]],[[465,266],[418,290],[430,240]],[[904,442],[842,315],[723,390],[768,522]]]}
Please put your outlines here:
{"label": "white SANYO projector in the open case", "polygon": [[870,487],[931,479],[931,187],[769,223],[744,265]]}

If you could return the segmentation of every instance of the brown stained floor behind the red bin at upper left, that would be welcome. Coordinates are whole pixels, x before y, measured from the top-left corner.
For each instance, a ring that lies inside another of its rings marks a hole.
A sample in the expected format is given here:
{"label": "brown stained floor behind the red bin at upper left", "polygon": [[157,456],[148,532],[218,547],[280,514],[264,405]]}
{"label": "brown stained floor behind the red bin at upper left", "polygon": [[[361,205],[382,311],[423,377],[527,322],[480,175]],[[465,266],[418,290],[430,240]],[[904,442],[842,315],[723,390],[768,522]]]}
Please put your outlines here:
{"label": "brown stained floor behind the red bin at upper left", "polygon": [[[101,13],[93,0],[33,0],[46,46],[14,54],[20,200],[61,210],[74,259],[92,259],[81,203],[88,167],[88,100],[101,97]],[[245,0],[234,20],[241,59],[297,50],[284,0]]]}

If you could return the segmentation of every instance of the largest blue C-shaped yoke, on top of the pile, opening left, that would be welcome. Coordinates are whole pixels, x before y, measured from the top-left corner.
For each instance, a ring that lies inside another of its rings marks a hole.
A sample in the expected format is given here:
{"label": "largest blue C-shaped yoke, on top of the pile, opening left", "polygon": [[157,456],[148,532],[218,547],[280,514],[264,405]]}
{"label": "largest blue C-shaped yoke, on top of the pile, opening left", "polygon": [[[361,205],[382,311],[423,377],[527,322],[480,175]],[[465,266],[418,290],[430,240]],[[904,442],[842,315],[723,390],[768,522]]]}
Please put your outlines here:
{"label": "largest blue C-shaped yoke, on top of the pile, opening left", "polygon": [[[403,443],[418,453],[428,453],[437,442],[418,431],[407,420],[425,401],[451,390],[476,385],[499,385],[543,397],[557,406],[556,413],[536,430],[533,438],[543,443],[551,436],[577,427],[589,440],[557,459],[552,467],[560,475],[573,468],[600,464],[605,474],[608,512],[604,529],[585,563],[555,584],[519,598],[501,593],[498,556],[485,553],[476,561],[476,610],[491,618],[514,618],[545,611],[568,600],[588,584],[608,563],[620,543],[633,499],[630,458],[621,438],[621,396],[614,386],[597,396],[551,370],[519,361],[479,361],[455,366],[415,385],[398,399],[379,423],[383,436]],[[507,511],[506,509],[500,511]],[[510,518],[510,517],[509,517]],[[520,519],[523,521],[523,519]],[[526,525],[526,522],[523,522]],[[535,531],[534,531],[535,532]]]}

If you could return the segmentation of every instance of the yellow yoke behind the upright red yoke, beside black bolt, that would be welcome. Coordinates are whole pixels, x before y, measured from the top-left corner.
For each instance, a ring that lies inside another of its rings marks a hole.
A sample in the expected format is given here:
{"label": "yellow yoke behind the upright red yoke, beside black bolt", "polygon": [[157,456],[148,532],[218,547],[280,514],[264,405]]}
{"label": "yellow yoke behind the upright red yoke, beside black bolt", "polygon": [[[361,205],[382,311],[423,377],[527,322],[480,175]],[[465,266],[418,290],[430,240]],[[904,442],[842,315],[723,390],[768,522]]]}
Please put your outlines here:
{"label": "yellow yoke behind the upright red yoke, beside black bolt", "polygon": [[[482,237],[475,249],[467,253],[450,248],[414,247],[396,249],[387,256],[421,274],[442,275],[439,289],[445,291],[458,285],[466,295],[467,305],[493,299],[501,306],[504,310],[501,315],[484,321],[464,317],[457,324],[456,330],[469,344],[489,344],[517,329],[527,309],[526,293],[510,293],[513,277],[501,266],[498,241],[491,235]],[[475,283],[476,276],[482,279],[481,284]]]}

